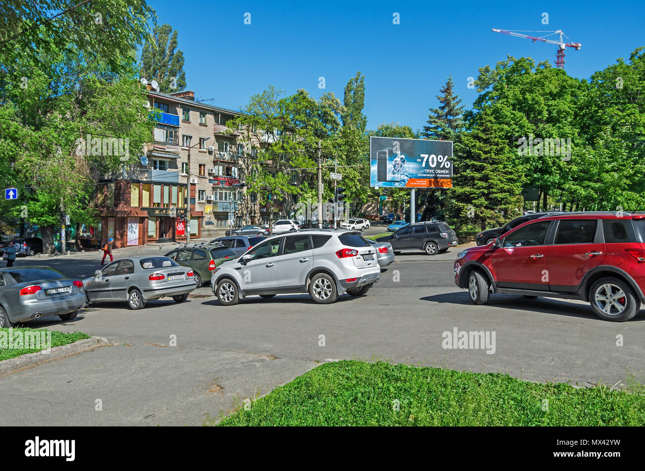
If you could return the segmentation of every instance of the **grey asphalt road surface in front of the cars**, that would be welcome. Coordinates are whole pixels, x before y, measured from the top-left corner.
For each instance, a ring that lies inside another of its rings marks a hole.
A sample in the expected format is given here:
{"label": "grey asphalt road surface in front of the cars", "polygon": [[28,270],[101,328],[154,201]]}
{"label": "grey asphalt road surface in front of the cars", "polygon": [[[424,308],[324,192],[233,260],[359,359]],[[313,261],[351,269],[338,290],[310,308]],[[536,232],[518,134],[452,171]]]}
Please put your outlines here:
{"label": "grey asphalt road surface in front of the cars", "polygon": [[[91,274],[98,262],[84,258],[58,257],[52,264]],[[489,305],[474,306],[455,286],[452,270],[450,261],[395,263],[367,295],[343,295],[328,306],[308,295],[283,295],[225,308],[201,288],[183,304],[162,299],[140,311],[101,304],[71,322],[37,320],[33,327],[83,331],[115,345],[0,378],[0,421],[201,425],[336,358],[617,387],[626,372],[642,369],[645,311],[613,323],[575,301],[492,295]],[[444,348],[443,334],[453,329],[494,332],[494,349]],[[170,346],[172,338],[177,346]]]}

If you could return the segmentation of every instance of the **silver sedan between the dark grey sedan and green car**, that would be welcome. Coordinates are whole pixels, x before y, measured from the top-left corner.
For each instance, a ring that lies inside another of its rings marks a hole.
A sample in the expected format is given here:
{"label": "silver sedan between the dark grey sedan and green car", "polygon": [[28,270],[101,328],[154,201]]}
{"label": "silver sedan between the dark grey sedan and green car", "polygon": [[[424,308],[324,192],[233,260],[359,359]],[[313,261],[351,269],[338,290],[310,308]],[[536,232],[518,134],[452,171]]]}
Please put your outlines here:
{"label": "silver sedan between the dark grey sedan and green car", "polygon": [[142,309],[151,299],[172,297],[184,302],[197,288],[195,272],[168,257],[128,257],[115,260],[83,280],[90,302],[127,302]]}

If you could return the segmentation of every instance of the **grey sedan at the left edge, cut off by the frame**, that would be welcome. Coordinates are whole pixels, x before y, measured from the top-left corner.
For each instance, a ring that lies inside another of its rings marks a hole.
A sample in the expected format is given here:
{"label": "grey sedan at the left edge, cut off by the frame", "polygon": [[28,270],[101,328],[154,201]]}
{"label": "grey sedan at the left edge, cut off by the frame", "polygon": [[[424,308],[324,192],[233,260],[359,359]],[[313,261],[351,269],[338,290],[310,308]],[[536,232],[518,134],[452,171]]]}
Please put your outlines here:
{"label": "grey sedan at the left edge, cut off by the frame", "polygon": [[84,306],[83,283],[54,268],[0,268],[0,327],[54,315],[72,320]]}

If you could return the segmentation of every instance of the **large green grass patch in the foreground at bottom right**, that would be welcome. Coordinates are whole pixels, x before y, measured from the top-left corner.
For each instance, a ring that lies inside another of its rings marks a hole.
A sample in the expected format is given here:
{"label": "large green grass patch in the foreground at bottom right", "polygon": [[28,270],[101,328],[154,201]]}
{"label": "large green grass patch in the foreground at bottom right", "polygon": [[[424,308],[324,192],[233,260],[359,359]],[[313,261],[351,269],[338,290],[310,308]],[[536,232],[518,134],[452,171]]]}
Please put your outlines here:
{"label": "large green grass patch in the foreground at bottom right", "polygon": [[633,378],[629,388],[344,360],[277,387],[248,411],[241,405],[219,425],[645,425],[644,388]]}

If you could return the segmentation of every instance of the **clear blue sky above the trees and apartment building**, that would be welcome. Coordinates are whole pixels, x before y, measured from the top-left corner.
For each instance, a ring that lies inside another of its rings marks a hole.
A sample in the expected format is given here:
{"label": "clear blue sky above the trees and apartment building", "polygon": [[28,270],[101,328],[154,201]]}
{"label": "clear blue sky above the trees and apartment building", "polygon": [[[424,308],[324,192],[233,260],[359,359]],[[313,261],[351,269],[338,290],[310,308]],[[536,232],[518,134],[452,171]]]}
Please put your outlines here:
{"label": "clear blue sky above the trees and apartment building", "polygon": [[[468,77],[506,55],[555,60],[554,44],[491,32],[562,30],[582,49],[567,48],[565,69],[579,78],[628,59],[645,46],[645,3],[391,2],[149,0],[159,24],[179,32],[187,88],[209,104],[239,109],[270,84],[342,101],[347,81],[365,75],[368,128],[400,122],[421,128],[448,75],[470,107]],[[244,24],[250,13],[251,24]],[[393,24],[393,14],[401,24]],[[542,13],[549,24],[542,24]],[[527,33],[539,36],[540,34]],[[325,89],[319,89],[319,77]]]}

